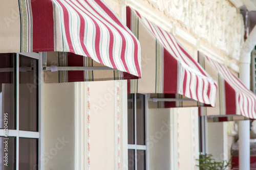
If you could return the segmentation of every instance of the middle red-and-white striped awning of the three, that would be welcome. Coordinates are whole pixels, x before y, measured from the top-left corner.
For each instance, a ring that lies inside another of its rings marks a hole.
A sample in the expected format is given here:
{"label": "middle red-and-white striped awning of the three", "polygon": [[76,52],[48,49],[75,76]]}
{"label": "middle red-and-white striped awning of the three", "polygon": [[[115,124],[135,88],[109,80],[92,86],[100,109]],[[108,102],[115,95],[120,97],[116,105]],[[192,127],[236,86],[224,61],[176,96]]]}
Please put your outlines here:
{"label": "middle red-and-white striped awning of the three", "polygon": [[[183,98],[215,106],[216,81],[208,76],[175,37],[130,7],[126,11],[127,27],[140,41],[143,72],[142,79],[128,81],[128,92],[166,94],[174,98],[183,95]],[[174,103],[168,107],[181,106],[176,102],[165,103]],[[198,106],[197,102],[195,106]]]}

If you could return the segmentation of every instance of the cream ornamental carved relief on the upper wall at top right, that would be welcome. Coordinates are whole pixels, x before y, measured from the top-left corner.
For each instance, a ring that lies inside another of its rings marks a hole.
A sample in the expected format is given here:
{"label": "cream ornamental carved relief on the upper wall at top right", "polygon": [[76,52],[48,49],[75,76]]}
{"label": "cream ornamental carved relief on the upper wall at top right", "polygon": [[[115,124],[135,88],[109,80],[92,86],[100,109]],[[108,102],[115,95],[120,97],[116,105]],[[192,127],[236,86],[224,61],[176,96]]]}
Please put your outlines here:
{"label": "cream ornamental carved relief on the upper wall at top right", "polygon": [[239,59],[244,42],[243,16],[227,0],[146,0],[191,34]]}

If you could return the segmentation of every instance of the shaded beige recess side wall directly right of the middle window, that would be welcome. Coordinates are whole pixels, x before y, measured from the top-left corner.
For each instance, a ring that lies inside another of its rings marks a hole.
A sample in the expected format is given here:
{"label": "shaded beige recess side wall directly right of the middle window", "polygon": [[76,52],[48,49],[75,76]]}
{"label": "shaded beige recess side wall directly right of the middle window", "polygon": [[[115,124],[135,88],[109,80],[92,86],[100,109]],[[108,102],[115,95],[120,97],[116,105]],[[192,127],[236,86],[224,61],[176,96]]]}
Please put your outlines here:
{"label": "shaded beige recess side wall directly right of the middle window", "polygon": [[148,109],[149,169],[170,169],[170,109]]}

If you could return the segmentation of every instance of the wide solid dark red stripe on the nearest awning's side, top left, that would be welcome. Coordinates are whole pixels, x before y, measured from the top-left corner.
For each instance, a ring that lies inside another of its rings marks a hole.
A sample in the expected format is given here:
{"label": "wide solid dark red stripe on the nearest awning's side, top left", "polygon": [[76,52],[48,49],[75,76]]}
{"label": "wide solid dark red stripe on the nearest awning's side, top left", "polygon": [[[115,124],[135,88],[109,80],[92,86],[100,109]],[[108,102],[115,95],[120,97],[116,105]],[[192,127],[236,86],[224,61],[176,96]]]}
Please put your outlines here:
{"label": "wide solid dark red stripe on the nearest awning's side, top left", "polygon": [[52,2],[48,0],[31,1],[31,8],[33,17],[33,52],[54,51]]}

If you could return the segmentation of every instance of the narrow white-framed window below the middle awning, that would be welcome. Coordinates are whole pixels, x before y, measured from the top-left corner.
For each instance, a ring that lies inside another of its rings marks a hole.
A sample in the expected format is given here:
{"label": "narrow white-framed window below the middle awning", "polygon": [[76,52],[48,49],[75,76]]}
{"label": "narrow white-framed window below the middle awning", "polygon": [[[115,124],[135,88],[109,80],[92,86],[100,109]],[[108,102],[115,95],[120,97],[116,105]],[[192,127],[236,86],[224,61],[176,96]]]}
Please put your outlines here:
{"label": "narrow white-framed window below the middle awning", "polygon": [[128,94],[128,169],[146,169],[145,96]]}

